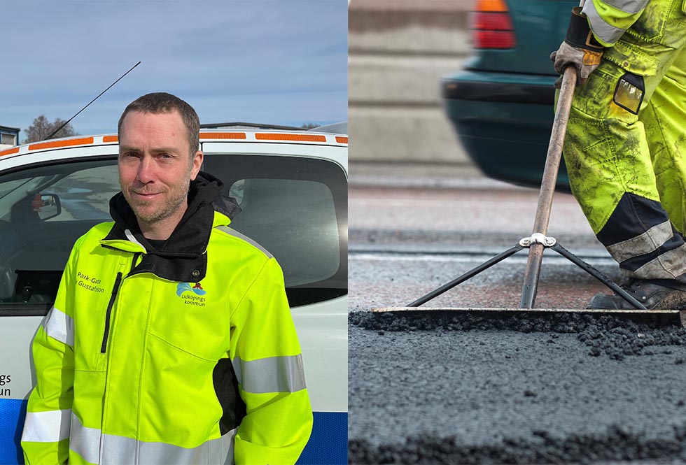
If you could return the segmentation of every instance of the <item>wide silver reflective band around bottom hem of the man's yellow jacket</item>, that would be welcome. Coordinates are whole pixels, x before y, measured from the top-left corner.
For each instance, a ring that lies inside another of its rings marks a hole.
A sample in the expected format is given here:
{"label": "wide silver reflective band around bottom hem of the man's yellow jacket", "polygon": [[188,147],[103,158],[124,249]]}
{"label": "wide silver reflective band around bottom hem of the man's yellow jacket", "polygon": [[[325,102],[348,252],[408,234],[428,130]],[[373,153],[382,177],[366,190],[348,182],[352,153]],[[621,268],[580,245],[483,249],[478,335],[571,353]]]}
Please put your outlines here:
{"label": "wide silver reflective band around bottom hem of the man's yellow jacket", "polygon": [[232,429],[221,438],[211,439],[197,448],[182,448],[173,444],[148,443],[124,436],[101,434],[99,429],[84,427],[76,415],[73,415],[71,424],[69,448],[91,464],[228,465],[234,462],[236,429]]}

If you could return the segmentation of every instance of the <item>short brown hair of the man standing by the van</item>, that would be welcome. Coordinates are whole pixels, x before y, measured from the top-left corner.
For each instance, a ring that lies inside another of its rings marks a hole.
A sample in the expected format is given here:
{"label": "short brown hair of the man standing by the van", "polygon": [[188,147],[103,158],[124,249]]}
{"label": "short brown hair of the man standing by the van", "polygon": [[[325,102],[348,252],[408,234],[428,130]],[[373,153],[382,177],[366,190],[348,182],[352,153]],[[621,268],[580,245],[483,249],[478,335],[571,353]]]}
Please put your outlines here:
{"label": "short brown hair of the man standing by the van", "polygon": [[153,113],[158,115],[160,113],[172,113],[177,110],[181,115],[183,124],[188,129],[188,142],[190,143],[190,155],[193,155],[196,150],[200,148],[200,118],[192,106],[186,101],[179,99],[176,95],[167,94],[167,92],[153,92],[139,96],[132,101],[124,109],[119,118],[117,125],[117,134],[121,137],[122,122],[124,117],[130,111],[139,111],[141,113]]}

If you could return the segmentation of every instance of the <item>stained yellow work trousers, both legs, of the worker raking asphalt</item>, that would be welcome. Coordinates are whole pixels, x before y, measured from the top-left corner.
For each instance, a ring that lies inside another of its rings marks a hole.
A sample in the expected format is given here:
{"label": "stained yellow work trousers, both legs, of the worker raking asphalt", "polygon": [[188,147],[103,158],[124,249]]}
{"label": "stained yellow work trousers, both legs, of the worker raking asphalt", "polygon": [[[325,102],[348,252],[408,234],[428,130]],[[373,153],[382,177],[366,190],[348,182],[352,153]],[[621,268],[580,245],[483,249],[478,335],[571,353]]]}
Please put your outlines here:
{"label": "stained yellow work trousers, both legs, of the worker raking asphalt", "polygon": [[[638,114],[617,104],[623,77],[643,84]],[[685,127],[686,0],[650,0],[575,90],[563,145],[572,192],[626,276],[686,282]]]}

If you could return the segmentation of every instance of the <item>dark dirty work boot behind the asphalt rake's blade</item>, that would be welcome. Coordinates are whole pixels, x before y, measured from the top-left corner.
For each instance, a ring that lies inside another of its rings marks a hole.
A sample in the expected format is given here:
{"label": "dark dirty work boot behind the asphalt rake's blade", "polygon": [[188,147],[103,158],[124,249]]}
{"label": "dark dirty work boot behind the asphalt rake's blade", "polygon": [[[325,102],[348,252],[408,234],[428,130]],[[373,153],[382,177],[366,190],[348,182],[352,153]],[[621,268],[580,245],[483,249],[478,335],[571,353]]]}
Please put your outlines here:
{"label": "dark dirty work boot behind the asphalt rake's blade", "polygon": [[[684,285],[673,280],[642,280],[632,279],[622,286],[626,292],[643,303],[645,308],[650,310],[685,310],[686,309],[686,290]],[[616,292],[612,295],[596,294],[591,299],[591,308],[602,308],[605,310],[635,310],[631,303],[624,300]]]}

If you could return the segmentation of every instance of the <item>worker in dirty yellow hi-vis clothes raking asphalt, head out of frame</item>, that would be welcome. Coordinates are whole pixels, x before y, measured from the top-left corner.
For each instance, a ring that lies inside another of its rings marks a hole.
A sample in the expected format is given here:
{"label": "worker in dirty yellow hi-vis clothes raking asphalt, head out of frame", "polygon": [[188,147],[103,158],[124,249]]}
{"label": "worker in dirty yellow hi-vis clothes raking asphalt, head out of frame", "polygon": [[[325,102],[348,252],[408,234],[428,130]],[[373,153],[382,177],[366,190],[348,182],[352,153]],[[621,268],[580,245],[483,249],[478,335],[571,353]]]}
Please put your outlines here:
{"label": "worker in dirty yellow hi-vis clothes raking asphalt, head out of frame", "polygon": [[[577,69],[572,192],[647,308],[686,308],[686,1],[587,0],[551,55]],[[598,294],[589,308],[633,308]]]}

